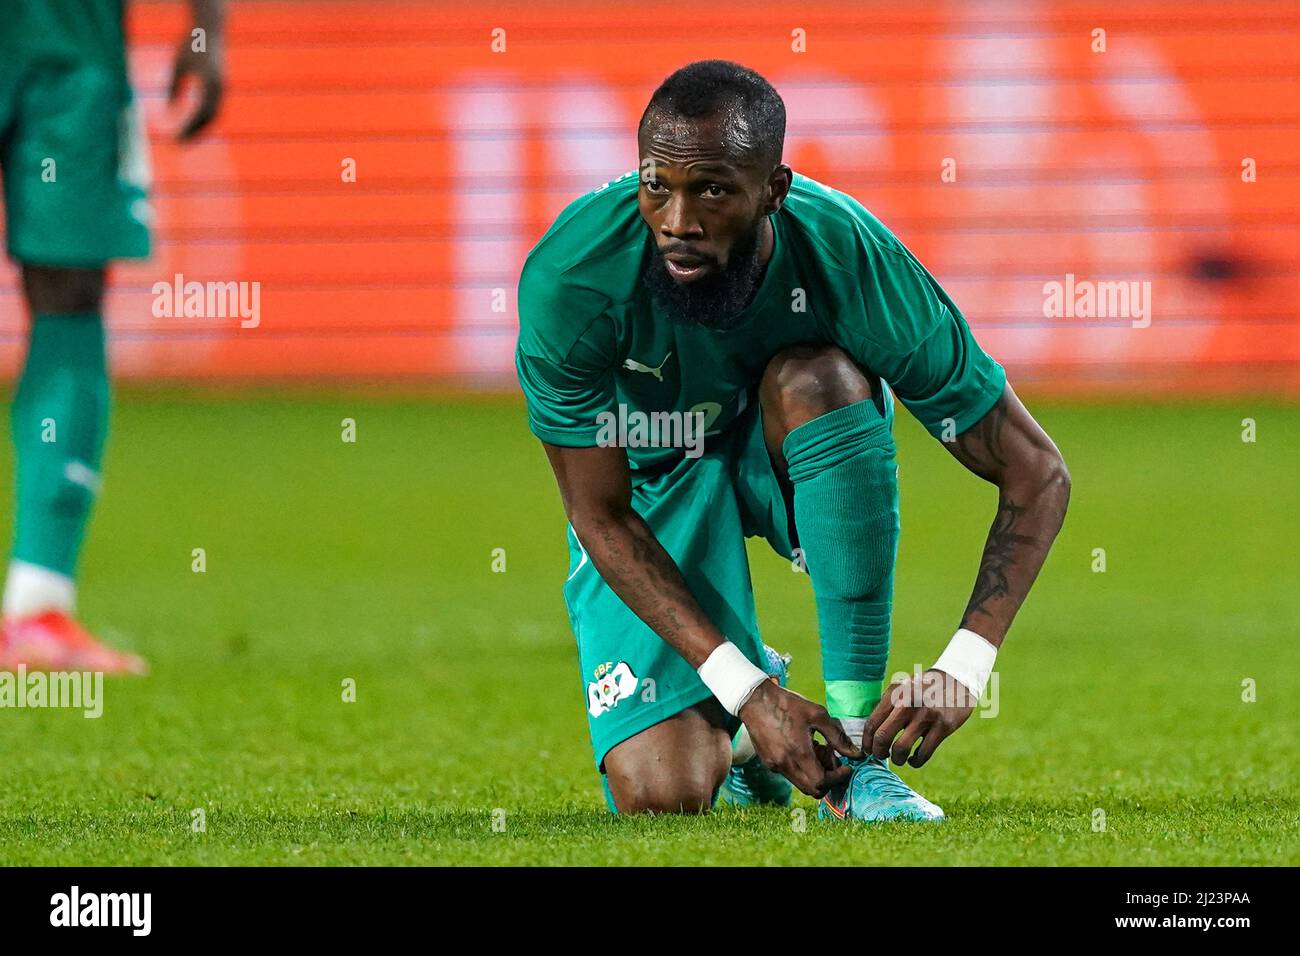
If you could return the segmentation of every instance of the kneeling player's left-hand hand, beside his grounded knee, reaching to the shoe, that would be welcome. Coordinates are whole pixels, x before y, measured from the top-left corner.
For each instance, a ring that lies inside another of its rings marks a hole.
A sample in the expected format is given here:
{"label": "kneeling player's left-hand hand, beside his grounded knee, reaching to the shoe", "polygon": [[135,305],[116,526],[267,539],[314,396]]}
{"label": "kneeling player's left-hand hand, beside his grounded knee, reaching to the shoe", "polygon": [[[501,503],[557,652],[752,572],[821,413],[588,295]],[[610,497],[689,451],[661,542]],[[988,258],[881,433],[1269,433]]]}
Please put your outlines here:
{"label": "kneeling player's left-hand hand, beside his grounded knee, reaching to the shoe", "polygon": [[[840,763],[836,750],[845,757],[862,756],[826,708],[786,691],[775,680],[764,680],[754,689],[740,709],[740,719],[749,728],[763,766],[811,797],[826,796],[852,775],[853,767]],[[814,740],[812,731],[820,732],[827,743]]]}

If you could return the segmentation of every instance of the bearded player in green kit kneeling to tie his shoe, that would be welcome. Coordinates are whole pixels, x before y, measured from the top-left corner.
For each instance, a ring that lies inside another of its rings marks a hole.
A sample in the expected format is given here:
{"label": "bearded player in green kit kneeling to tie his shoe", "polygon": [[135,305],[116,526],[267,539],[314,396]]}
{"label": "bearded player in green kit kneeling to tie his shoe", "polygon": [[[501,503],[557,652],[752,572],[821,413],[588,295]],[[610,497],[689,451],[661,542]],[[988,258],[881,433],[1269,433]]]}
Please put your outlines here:
{"label": "bearded player in green kit kneeling to tie his shoe", "polygon": [[[783,164],[784,137],[762,77],[690,64],[646,107],[640,174],[569,204],[524,265],[516,365],[569,519],[595,762],[624,813],[785,803],[784,778],[823,816],[940,819],[887,760],[923,765],[970,715],[1069,473],[933,277]],[[1000,497],[961,627],[883,693],[893,394]],[[759,639],[758,535],[806,562],[827,708]]]}

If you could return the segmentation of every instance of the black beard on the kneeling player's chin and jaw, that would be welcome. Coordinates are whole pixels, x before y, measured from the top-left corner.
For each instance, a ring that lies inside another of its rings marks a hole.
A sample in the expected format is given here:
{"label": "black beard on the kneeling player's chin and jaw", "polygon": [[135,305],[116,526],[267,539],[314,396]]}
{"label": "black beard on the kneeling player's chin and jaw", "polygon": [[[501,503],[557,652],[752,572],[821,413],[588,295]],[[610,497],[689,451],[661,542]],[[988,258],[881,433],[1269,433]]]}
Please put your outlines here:
{"label": "black beard on the kneeling player's chin and jaw", "polygon": [[727,332],[740,325],[740,313],[754,298],[763,264],[758,260],[758,237],[762,217],[754,228],[736,239],[723,269],[693,282],[677,282],[668,274],[663,252],[651,237],[653,255],[644,281],[654,304],[666,316],[682,325],[696,325],[714,332]]}

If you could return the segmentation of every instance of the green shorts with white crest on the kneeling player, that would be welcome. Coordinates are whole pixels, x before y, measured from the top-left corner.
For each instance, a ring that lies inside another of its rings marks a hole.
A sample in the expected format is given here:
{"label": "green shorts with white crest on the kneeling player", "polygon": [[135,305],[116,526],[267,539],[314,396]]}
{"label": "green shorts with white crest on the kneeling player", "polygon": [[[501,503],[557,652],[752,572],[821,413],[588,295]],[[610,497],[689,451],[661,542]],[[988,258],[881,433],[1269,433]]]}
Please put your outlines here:
{"label": "green shorts with white crest on the kneeling player", "polygon": [[[745,538],[762,536],[790,559],[790,516],[763,442],[757,405],[703,455],[671,471],[633,473],[632,506],[681,568],[718,628],[763,666]],[[604,583],[568,529],[564,604],[577,637],[582,698],[595,762],[615,745],[708,700],[694,667],[651,631]],[[732,731],[740,728],[734,722]]]}

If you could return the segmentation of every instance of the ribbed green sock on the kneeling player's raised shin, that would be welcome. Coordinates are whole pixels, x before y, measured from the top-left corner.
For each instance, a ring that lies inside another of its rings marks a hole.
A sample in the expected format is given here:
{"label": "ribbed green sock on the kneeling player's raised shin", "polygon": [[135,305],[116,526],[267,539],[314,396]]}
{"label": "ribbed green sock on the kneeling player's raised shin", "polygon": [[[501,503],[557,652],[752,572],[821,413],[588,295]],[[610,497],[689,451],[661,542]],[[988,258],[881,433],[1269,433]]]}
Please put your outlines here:
{"label": "ribbed green sock on the kneeling player's raised shin", "polygon": [[893,436],[871,399],[792,431],[784,444],[794,524],[812,579],[832,717],[866,717],[889,658],[898,477]]}

